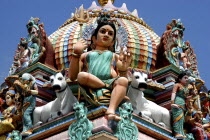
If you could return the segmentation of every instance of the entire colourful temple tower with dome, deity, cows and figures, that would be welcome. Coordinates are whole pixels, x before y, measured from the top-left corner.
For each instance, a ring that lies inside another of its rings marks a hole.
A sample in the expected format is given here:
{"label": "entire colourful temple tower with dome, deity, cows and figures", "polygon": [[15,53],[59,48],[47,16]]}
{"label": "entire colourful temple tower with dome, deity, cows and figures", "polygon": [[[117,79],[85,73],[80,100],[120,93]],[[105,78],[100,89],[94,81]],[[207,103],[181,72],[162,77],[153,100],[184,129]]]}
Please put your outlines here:
{"label": "entire colourful temple tower with dome, deity, cows and figures", "polygon": [[136,9],[98,3],[49,37],[29,19],[0,86],[0,139],[208,139],[210,93],[181,20],[159,37]]}

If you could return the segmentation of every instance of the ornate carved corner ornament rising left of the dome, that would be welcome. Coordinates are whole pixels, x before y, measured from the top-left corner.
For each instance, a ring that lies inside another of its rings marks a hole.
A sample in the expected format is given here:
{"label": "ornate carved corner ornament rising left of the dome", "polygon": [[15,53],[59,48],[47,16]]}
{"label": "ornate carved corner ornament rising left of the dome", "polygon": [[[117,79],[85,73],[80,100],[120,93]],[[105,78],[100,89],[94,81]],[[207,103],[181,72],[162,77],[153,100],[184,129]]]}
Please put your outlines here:
{"label": "ornate carved corner ornament rising left of the dome", "polygon": [[33,17],[28,21],[26,25],[28,36],[20,39],[9,75],[18,73],[36,62],[56,68],[52,44],[47,38],[44,24],[39,24],[39,21],[39,18]]}

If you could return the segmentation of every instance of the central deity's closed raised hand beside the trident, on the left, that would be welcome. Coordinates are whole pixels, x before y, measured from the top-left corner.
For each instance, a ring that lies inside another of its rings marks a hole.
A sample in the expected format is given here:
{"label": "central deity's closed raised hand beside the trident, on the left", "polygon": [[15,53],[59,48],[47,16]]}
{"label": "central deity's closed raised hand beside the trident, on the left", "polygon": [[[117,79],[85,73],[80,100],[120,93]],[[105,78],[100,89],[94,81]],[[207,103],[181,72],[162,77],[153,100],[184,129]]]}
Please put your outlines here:
{"label": "central deity's closed raised hand beside the trident, on the left", "polygon": [[84,39],[79,39],[79,41],[74,45],[74,53],[82,54],[83,51],[87,48],[87,43]]}

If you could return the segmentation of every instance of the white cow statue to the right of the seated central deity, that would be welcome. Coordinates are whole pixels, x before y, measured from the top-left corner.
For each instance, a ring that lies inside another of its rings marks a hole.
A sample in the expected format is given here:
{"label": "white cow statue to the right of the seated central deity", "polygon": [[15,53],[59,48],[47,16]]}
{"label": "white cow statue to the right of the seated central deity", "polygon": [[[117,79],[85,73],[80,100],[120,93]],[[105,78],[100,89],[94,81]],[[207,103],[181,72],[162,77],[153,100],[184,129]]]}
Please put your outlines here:
{"label": "white cow statue to the right of the seated central deity", "polygon": [[128,90],[128,97],[134,109],[134,113],[155,122],[167,129],[171,129],[170,112],[156,103],[147,100],[143,91],[147,88],[147,74],[132,71],[131,84]]}

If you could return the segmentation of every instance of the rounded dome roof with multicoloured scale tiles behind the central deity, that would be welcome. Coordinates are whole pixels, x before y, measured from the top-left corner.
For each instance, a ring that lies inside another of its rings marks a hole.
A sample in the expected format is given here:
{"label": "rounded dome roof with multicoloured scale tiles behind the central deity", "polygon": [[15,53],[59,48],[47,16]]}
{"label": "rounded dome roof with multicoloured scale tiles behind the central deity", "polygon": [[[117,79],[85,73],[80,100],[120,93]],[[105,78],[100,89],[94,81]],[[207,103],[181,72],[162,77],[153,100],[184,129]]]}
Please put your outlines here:
{"label": "rounded dome roof with multicoloured scale tiles behind the central deity", "polygon": [[[49,36],[55,50],[55,59],[58,69],[69,68],[73,46],[80,38],[80,26],[82,37],[90,44],[90,37],[97,26],[97,18],[100,13],[111,13],[111,19],[115,20],[117,28],[116,53],[120,47],[125,47],[133,53],[131,67],[146,71],[154,71],[157,59],[157,45],[160,37],[141,19],[135,9],[130,12],[126,4],[115,7],[111,1],[104,6],[98,6],[96,2],[84,10],[83,6],[76,12],[85,11],[89,20],[86,23],[76,20],[75,15],[68,19],[60,28]],[[85,14],[85,13],[84,13]],[[87,17],[87,16],[86,16]]]}

